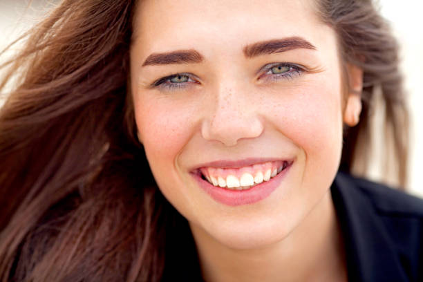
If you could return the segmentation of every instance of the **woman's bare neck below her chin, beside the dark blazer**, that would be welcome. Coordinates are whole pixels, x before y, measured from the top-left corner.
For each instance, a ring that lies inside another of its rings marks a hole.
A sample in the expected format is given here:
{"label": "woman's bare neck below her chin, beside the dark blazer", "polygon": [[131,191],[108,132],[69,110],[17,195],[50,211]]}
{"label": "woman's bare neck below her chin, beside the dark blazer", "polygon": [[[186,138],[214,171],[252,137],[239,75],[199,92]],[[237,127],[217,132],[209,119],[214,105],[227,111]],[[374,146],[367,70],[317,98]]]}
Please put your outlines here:
{"label": "woman's bare neck below her chin, beside the dark blazer", "polygon": [[205,281],[346,281],[330,191],[282,241],[234,250],[191,225]]}

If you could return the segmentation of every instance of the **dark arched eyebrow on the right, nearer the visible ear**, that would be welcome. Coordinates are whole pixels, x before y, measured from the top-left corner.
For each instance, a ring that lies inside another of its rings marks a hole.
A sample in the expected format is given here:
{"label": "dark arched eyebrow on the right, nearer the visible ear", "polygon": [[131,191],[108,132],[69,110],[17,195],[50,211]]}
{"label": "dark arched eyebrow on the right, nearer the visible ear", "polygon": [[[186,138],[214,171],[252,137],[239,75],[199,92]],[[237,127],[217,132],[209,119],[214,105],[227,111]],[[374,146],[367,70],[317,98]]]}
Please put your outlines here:
{"label": "dark arched eyebrow on the right, nearer the visible ear", "polygon": [[313,44],[308,42],[306,39],[301,37],[287,37],[283,39],[272,39],[249,44],[243,48],[243,52],[245,57],[252,58],[260,55],[281,53],[299,48],[316,50],[316,47],[314,47]]}

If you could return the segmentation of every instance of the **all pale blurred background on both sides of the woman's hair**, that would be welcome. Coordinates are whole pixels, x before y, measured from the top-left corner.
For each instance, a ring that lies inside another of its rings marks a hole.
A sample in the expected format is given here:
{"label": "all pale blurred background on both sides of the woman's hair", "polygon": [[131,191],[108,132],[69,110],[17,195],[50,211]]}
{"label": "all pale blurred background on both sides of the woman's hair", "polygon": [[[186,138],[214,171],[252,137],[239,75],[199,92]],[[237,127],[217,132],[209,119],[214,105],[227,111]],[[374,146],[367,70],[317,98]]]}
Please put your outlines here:
{"label": "all pale blurred background on both sides of the woman's hair", "polygon": [[[16,39],[25,30],[58,3],[57,0],[1,0],[0,1],[0,50]],[[381,0],[378,2],[382,15],[391,22],[401,44],[402,70],[411,110],[411,154],[407,191],[423,197],[423,2],[416,0]],[[0,57],[0,63],[14,50]],[[2,104],[0,98],[0,105]],[[373,169],[372,178],[380,180],[380,171]]]}

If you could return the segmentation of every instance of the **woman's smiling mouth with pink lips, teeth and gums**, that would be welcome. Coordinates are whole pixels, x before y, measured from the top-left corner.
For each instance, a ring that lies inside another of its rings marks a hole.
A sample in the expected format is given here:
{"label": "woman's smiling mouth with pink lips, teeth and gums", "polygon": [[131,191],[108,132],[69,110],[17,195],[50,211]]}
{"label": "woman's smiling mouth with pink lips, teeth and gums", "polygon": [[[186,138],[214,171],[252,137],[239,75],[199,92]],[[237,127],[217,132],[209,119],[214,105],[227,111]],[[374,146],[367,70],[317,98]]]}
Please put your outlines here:
{"label": "woman's smiling mouth with pink lips, teeth and gums", "polygon": [[207,194],[225,205],[256,203],[274,191],[294,160],[261,162],[245,167],[200,167],[191,175]]}

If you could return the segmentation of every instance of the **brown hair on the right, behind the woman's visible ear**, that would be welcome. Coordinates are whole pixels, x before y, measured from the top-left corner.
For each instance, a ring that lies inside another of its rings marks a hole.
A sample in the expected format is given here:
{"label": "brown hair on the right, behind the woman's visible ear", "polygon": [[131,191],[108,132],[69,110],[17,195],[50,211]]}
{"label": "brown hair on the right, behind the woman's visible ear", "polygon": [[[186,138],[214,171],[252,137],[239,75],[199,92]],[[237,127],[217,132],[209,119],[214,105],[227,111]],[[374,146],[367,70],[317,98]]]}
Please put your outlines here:
{"label": "brown hair on the right, behind the woman's visible ear", "polygon": [[[321,19],[337,32],[344,64],[364,71],[360,122],[346,129],[340,169],[366,176],[372,151],[382,145],[377,163],[383,169],[382,180],[403,189],[409,122],[397,40],[371,0],[318,0],[318,6]],[[382,144],[375,144],[375,139]]]}

